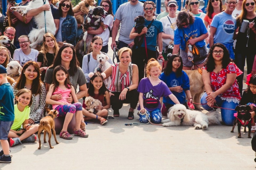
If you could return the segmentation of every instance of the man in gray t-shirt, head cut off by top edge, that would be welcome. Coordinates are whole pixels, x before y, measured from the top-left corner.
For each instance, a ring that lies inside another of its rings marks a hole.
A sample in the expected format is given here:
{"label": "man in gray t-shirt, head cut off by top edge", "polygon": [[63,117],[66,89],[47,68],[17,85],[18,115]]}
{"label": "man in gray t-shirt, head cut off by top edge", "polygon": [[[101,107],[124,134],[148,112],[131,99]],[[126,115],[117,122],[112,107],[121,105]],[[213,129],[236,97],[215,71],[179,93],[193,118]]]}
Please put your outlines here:
{"label": "man in gray t-shirt, head cut off by top edge", "polygon": [[[129,36],[134,26],[134,18],[139,15],[144,15],[144,12],[143,3],[139,2],[138,0],[130,0],[127,3],[120,5],[114,16],[115,22],[112,28],[111,43],[112,50],[114,47],[117,47],[118,49],[127,46],[129,46],[130,48],[133,47],[133,39],[130,39]],[[121,26],[117,46],[115,38],[117,37],[117,31],[120,23]]]}

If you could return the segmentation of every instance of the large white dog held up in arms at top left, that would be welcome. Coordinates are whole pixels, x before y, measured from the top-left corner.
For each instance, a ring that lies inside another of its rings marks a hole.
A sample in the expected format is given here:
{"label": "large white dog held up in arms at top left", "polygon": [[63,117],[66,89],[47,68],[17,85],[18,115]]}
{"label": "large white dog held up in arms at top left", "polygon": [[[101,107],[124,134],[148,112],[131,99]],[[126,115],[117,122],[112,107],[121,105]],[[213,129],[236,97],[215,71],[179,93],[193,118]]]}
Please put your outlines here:
{"label": "large white dog held up in arms at top left", "polygon": [[[48,0],[45,1],[45,4],[49,4]],[[22,10],[23,14],[22,16],[25,16],[29,10],[39,8],[42,5],[44,5],[43,0],[32,0],[29,2],[27,6],[19,6],[19,7],[12,7],[12,10]],[[36,48],[37,44],[40,44],[43,42],[43,36],[44,34],[51,33],[55,35],[56,32],[56,26],[54,24],[53,16],[51,10],[46,10],[45,14],[44,11],[34,16],[34,21],[37,24],[37,29],[33,28],[30,33],[28,34],[28,37],[31,41],[31,48]],[[45,25],[46,25],[46,32],[45,32]]]}

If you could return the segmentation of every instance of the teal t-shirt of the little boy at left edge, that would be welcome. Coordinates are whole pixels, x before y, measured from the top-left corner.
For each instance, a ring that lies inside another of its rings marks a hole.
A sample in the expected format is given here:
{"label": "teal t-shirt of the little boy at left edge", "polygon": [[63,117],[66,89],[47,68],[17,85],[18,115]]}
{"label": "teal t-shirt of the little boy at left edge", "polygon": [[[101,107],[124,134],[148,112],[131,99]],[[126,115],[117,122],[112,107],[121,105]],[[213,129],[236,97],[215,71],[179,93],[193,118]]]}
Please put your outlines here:
{"label": "teal t-shirt of the little boy at left edge", "polygon": [[0,86],[0,121],[10,122],[14,120],[14,95],[12,86],[4,83]]}

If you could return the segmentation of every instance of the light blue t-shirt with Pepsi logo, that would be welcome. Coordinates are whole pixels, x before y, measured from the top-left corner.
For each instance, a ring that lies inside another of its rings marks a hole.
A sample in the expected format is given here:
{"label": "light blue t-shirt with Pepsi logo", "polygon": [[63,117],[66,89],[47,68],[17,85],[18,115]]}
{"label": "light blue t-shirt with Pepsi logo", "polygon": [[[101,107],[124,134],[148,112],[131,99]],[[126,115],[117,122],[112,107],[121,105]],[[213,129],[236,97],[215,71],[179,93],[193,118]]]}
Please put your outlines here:
{"label": "light blue t-shirt with Pepsi logo", "polygon": [[216,28],[214,43],[233,43],[233,35],[236,30],[236,18],[234,16],[221,12],[214,16],[211,26]]}

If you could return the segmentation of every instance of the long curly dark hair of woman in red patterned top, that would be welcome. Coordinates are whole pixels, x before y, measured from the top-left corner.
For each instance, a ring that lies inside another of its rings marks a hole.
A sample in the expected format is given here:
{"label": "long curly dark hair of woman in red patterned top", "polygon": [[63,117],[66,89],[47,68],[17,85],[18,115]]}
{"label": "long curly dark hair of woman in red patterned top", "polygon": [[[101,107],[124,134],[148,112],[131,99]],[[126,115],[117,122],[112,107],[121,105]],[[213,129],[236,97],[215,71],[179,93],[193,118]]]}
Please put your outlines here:
{"label": "long curly dark hair of woman in red patterned top", "polygon": [[226,68],[228,66],[228,64],[233,61],[229,57],[228,49],[222,43],[215,43],[210,48],[208,57],[206,59],[206,64],[204,64],[204,66],[207,67],[207,72],[212,72],[215,69],[215,64],[214,64],[215,61],[214,61],[214,58],[212,56],[212,52],[214,51],[215,47],[220,47],[224,51],[223,59],[222,59],[222,68]]}

